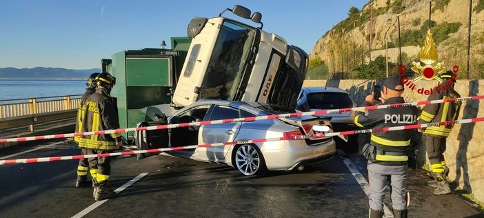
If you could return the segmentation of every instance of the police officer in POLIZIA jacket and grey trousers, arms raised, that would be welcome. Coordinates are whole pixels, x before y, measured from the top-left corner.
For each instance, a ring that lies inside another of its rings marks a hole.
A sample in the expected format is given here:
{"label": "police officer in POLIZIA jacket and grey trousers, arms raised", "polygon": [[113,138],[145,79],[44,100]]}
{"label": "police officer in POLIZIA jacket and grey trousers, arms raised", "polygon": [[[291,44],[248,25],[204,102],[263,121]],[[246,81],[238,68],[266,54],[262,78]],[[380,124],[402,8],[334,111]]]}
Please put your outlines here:
{"label": "police officer in POLIZIA jacket and grey trousers, arms raised", "polygon": [[[399,75],[383,81],[380,100],[385,104],[404,103],[403,83]],[[376,103],[374,93],[365,99],[366,106]],[[415,106],[385,108],[359,112],[354,123],[362,128],[386,128],[416,123]],[[414,131],[414,130],[413,130]],[[370,143],[363,147],[368,159],[368,181],[370,184],[370,217],[383,217],[383,199],[387,187],[391,187],[394,217],[407,217],[408,150],[412,130],[372,132]]]}

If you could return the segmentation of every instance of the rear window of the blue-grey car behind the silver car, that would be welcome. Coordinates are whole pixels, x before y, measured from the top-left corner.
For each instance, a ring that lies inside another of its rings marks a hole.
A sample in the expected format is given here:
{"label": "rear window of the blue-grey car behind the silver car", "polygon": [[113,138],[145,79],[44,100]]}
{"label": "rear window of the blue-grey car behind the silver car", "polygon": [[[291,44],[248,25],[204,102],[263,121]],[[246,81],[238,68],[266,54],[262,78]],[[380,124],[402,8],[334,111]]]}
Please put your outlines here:
{"label": "rear window of the blue-grey car behind the silver car", "polygon": [[340,92],[313,92],[307,95],[307,105],[311,109],[351,108],[350,95]]}

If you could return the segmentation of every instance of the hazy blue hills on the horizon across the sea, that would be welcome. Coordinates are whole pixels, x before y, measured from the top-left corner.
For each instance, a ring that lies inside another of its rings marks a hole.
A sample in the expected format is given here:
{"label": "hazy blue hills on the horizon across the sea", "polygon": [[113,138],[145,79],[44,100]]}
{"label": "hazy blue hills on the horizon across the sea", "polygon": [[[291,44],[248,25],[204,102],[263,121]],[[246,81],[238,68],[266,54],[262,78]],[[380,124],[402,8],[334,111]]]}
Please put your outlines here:
{"label": "hazy blue hills on the horizon across the sea", "polygon": [[93,72],[101,72],[101,69],[0,68],[0,79],[85,79]]}

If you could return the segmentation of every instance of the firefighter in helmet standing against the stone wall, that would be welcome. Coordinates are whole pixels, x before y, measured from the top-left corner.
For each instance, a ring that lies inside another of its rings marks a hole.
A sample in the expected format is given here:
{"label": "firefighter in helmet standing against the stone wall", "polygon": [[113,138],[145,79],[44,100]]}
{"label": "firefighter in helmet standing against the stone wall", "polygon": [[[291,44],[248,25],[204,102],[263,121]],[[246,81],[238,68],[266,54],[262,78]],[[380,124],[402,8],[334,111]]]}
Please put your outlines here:
{"label": "firefighter in helmet standing against the stone wall", "polygon": [[[442,83],[436,86],[427,101],[436,99],[459,98],[454,85],[455,75],[451,70],[441,73]],[[454,121],[457,119],[461,109],[461,101],[427,104],[422,108],[419,123],[435,123]],[[425,147],[430,161],[430,175],[433,180],[428,181],[427,185],[435,188],[434,195],[445,195],[451,192],[447,176],[449,168],[445,166],[443,152],[445,152],[445,141],[454,125],[429,126],[423,130],[425,136]]]}

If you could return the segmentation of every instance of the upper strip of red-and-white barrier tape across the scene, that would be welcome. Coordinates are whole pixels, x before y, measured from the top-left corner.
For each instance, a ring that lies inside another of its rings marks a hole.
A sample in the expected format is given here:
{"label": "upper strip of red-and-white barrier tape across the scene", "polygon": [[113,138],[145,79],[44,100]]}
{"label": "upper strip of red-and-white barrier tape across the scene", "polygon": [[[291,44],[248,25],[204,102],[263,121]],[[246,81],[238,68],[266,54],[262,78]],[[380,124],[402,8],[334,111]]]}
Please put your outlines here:
{"label": "upper strip of red-and-white barrier tape across the scene", "polygon": [[18,138],[10,138],[10,139],[0,139],[0,143],[36,141],[36,140],[42,140],[42,139],[63,139],[63,138],[69,138],[69,137],[81,137],[85,135],[105,135],[105,134],[123,133],[123,132],[130,132],[130,131],[142,131],[142,130],[163,130],[168,128],[205,126],[205,125],[213,125],[213,124],[221,124],[221,123],[234,123],[234,122],[244,122],[244,121],[256,121],[256,120],[263,120],[263,119],[287,118],[287,117],[302,117],[302,116],[309,116],[309,115],[339,114],[341,112],[350,112],[350,111],[376,110],[376,109],[382,109],[382,108],[399,108],[399,107],[405,107],[405,106],[421,106],[421,105],[427,105],[432,103],[468,101],[468,100],[477,100],[477,99],[484,99],[484,95],[477,95],[472,97],[460,97],[460,98],[454,98],[454,99],[438,99],[438,100],[431,100],[431,101],[393,103],[393,104],[379,105],[379,106],[363,106],[363,107],[356,107],[356,108],[341,108],[341,109],[317,110],[317,111],[309,111],[309,112],[294,112],[294,113],[281,114],[281,115],[244,117],[244,118],[236,118],[236,119],[219,119],[219,120],[212,120],[212,121],[177,123],[177,124],[167,124],[167,125],[160,125],[160,126],[144,126],[144,127],[124,128],[124,129],[116,129],[116,130],[77,132],[77,133],[67,133],[67,134],[58,134],[58,135],[43,135],[43,136],[35,136],[35,137],[18,137]]}

